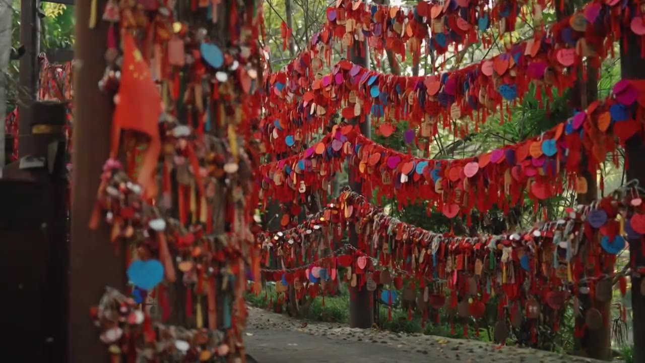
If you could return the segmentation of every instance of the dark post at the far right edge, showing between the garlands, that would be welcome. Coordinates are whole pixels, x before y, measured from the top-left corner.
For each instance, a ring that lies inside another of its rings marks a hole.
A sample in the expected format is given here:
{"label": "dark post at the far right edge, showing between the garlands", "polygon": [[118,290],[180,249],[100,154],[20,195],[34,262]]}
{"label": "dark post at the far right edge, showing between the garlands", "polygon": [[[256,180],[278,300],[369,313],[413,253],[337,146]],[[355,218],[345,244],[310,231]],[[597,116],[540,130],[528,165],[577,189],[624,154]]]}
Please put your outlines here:
{"label": "dark post at the far right edge, showing between the garlands", "polygon": [[[635,35],[630,29],[624,29],[626,43],[620,43],[620,73],[622,79],[645,81],[645,67],[640,57],[642,43],[640,36]],[[642,121],[642,120],[641,120]],[[642,130],[641,130],[642,132]],[[640,137],[639,137],[640,136]],[[640,186],[645,185],[645,143],[643,135],[637,135],[626,143],[625,163],[627,180],[636,179]],[[641,289],[644,276],[635,274],[635,269],[645,266],[645,251],[642,250],[640,239],[630,240],[631,260],[631,309],[633,319],[633,362],[645,362],[645,291]]]}

